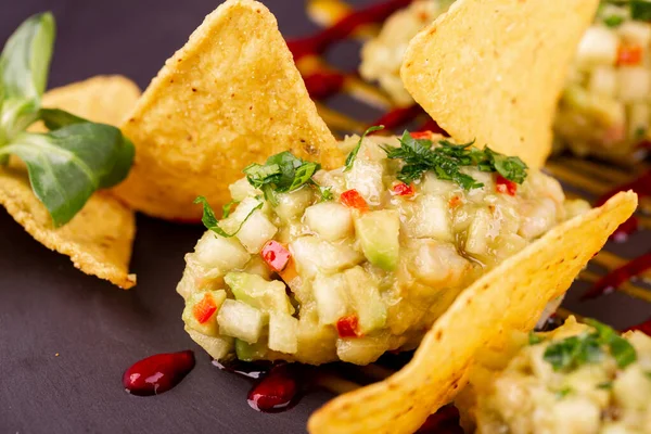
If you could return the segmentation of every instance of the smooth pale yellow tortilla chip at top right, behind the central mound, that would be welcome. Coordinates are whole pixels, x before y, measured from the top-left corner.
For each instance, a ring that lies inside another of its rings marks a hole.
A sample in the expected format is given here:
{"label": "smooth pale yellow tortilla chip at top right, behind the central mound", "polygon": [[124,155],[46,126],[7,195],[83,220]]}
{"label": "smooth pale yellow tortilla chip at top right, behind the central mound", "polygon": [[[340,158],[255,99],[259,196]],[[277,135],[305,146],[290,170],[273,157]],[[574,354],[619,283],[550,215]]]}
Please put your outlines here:
{"label": "smooth pale yellow tortilla chip at top right, behind the central mound", "polygon": [[460,143],[539,168],[572,55],[598,0],[457,0],[413,38],[401,77]]}

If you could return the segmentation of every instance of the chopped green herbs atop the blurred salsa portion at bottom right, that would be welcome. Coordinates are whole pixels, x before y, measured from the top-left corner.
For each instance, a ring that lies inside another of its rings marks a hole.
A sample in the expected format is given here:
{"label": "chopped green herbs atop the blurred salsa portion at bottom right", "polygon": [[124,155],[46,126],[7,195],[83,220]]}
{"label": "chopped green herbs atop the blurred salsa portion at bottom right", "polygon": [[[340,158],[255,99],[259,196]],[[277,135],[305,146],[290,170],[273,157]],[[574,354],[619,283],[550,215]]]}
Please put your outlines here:
{"label": "chopped green herbs atop the blurred salsa portion at bottom right", "polygon": [[595,320],[588,320],[586,323],[595,328],[595,332],[566,337],[549,345],[545,350],[544,358],[551,363],[554,371],[572,371],[582,365],[602,360],[603,346],[609,348],[621,369],[637,360],[633,345],[612,328]]}

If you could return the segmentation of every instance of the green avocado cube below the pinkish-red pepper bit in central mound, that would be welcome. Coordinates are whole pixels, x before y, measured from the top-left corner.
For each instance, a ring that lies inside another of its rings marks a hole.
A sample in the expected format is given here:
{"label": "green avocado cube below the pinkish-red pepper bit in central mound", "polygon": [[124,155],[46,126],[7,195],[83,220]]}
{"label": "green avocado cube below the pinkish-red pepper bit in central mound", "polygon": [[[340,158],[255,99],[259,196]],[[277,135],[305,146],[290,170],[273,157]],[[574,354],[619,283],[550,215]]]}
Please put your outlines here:
{"label": "green avocado cube below the pinkish-red pepper bit in central mound", "polygon": [[235,299],[266,312],[288,315],[294,312],[285,285],[281,281],[267,281],[260,276],[247,272],[229,272],[224,280],[230,286]]}

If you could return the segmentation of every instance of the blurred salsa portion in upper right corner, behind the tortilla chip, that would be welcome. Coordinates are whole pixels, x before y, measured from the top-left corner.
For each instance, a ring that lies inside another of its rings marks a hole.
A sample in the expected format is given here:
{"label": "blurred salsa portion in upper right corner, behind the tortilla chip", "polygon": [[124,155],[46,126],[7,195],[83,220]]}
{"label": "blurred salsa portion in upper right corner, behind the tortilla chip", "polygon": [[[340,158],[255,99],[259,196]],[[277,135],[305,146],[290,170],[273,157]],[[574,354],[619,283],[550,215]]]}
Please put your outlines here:
{"label": "blurred salsa portion in upper right corner, behind the tortilla chip", "polygon": [[651,3],[603,1],[572,64],[554,124],[557,144],[625,159],[650,138]]}

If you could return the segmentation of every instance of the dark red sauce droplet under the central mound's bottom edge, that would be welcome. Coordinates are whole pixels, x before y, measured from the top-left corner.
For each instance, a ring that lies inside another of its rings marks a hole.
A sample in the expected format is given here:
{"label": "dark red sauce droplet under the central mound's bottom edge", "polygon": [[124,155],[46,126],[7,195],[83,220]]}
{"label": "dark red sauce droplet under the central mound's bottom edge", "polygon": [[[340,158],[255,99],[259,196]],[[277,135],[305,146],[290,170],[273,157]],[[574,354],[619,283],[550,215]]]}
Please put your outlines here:
{"label": "dark red sauce droplet under the central mound's bottom edge", "polygon": [[290,365],[278,365],[248,392],[251,408],[263,412],[279,412],[298,400],[299,374]]}

